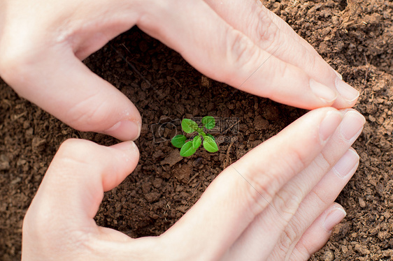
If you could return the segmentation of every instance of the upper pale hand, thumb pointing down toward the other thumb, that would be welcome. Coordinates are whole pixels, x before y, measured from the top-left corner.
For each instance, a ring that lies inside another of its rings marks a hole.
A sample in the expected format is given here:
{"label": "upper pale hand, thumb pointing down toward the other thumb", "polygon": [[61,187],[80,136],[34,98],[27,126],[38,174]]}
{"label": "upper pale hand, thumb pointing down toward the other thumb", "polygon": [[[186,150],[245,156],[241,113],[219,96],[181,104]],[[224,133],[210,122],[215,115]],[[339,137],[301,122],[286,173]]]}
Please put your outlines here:
{"label": "upper pale hand, thumb pointing down toward the other thumb", "polygon": [[135,24],[251,94],[306,109],[352,107],[359,96],[256,0],[2,0],[0,75],[73,128],[134,140],[136,107],[80,60]]}

